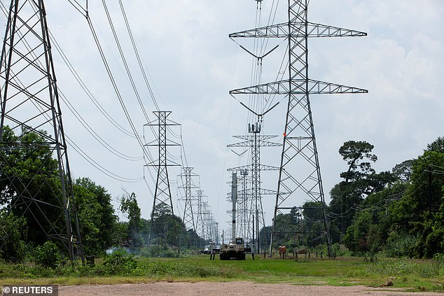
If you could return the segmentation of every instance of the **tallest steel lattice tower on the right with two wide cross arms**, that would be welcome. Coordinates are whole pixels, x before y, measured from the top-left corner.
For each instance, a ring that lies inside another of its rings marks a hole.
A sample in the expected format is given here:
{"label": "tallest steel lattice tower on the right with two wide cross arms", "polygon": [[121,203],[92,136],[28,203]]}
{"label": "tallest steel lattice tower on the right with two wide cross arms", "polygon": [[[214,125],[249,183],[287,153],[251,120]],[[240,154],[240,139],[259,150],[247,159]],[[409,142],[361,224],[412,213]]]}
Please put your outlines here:
{"label": "tallest steel lattice tower on the right with two wide cross arms", "polygon": [[[278,240],[279,234],[284,234],[283,232],[289,229],[289,227],[277,225],[277,216],[282,217],[292,210],[302,211],[300,204],[309,199],[319,205],[319,211],[316,212],[320,214],[319,220],[324,224],[323,234],[320,234],[317,239],[324,236],[322,242],[328,246],[328,255],[331,255],[331,241],[325,213],[326,204],[309,95],[366,93],[368,91],[310,79],[308,76],[308,38],[366,36],[367,34],[308,22],[308,3],[308,0],[289,0],[288,22],[230,34],[230,38],[286,38],[289,55],[287,80],[244,87],[232,90],[230,94],[284,94],[288,97],[271,242],[273,239]],[[271,253],[270,245],[270,255]]]}

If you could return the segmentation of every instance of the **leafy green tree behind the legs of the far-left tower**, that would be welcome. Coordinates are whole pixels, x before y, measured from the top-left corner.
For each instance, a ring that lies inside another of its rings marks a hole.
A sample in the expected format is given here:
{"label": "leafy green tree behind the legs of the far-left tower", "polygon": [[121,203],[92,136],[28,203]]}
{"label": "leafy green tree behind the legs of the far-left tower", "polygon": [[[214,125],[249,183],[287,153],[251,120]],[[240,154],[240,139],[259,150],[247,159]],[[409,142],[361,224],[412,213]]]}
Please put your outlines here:
{"label": "leafy green tree behind the legs of the far-left tower", "polygon": [[45,135],[23,129],[18,136],[8,126],[1,134],[0,205],[25,218],[27,241],[36,244],[66,229],[58,162]]}

